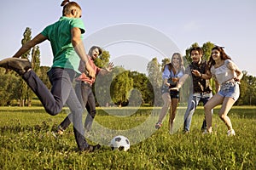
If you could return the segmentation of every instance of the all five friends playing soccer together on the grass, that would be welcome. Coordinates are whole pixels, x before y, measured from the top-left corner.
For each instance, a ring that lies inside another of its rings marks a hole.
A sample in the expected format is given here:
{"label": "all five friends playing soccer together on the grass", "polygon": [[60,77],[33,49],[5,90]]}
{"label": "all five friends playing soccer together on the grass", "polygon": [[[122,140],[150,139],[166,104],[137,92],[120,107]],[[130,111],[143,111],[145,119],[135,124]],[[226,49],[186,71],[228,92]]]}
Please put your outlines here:
{"label": "all five friends playing soccer together on the grass", "polygon": [[[46,26],[31,41],[22,45],[13,57],[1,60],[0,67],[16,71],[38,96],[49,115],[57,115],[66,104],[71,113],[61,122],[58,133],[64,133],[64,130],[73,122],[73,133],[79,150],[91,152],[101,147],[100,144],[88,144],[84,137],[84,130],[90,131],[91,123],[96,116],[95,98],[91,87],[96,80],[96,75],[106,75],[112,71],[113,63],[109,63],[104,69],[94,64],[94,59],[102,54],[102,48],[93,46],[86,54],[82,39],[85,28],[80,19],[81,7],[78,3],[68,0],[64,0],[61,6],[63,9],[60,20]],[[52,85],[50,90],[32,70],[29,60],[20,59],[20,56],[32,47],[46,40],[49,40],[54,56],[53,65],[47,73]],[[219,116],[226,123],[230,134],[235,134],[227,114],[239,96],[238,82],[242,77],[241,71],[224,53],[223,48],[212,48],[212,55],[208,63],[202,61],[202,55],[201,48],[192,48],[190,56],[193,62],[184,69],[181,55],[173,54],[172,62],[166,65],[163,72],[165,105],[156,127],[161,126],[170,104],[172,104],[171,127],[173,126],[179,99],[178,88],[181,88],[185,79],[191,76],[193,77],[194,91],[185,114],[184,130],[189,132],[195,107],[199,101],[203,101],[206,121],[203,122],[202,128],[207,126],[207,132],[212,133],[212,108],[222,104]],[[213,97],[209,86],[211,77],[216,79],[220,87],[218,94]],[[75,88],[73,88],[73,82],[76,82]],[[83,126],[82,115],[85,108],[89,114],[86,116]]]}

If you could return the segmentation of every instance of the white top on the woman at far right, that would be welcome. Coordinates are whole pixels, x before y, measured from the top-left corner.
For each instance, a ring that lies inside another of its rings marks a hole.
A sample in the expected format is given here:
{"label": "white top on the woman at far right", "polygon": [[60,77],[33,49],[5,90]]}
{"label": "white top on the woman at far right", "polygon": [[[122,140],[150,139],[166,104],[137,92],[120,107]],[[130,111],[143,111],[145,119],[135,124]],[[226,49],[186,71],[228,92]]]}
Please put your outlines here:
{"label": "white top on the woman at far right", "polygon": [[219,84],[230,81],[236,77],[236,71],[231,70],[228,65],[235,65],[230,59],[224,60],[224,65],[215,68],[214,65],[211,67],[212,77],[216,78]]}

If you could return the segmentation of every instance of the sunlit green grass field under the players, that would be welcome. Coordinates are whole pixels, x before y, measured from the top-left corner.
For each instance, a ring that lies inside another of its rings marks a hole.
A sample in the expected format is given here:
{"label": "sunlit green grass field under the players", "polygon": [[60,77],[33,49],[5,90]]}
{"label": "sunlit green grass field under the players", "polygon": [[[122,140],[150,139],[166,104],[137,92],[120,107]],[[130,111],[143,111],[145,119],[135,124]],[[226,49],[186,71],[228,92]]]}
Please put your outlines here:
{"label": "sunlit green grass field under the players", "polygon": [[[96,124],[121,133],[146,122],[151,112],[148,108],[98,109]],[[160,108],[156,109],[153,121],[146,123],[148,129],[154,128],[159,112]],[[133,134],[127,152],[102,145],[94,153],[84,153],[77,151],[72,127],[58,138],[51,134],[67,116],[66,111],[49,116],[42,107],[0,107],[0,169],[256,169],[256,107],[232,108],[229,116],[236,130],[234,137],[227,137],[224,122],[217,115],[218,108],[214,110],[212,135],[201,134],[203,109],[199,107],[188,134],[182,133],[180,111],[176,133],[169,134],[166,118],[160,130],[150,131],[141,142],[136,139],[143,130]],[[112,138],[108,133],[98,136]]]}

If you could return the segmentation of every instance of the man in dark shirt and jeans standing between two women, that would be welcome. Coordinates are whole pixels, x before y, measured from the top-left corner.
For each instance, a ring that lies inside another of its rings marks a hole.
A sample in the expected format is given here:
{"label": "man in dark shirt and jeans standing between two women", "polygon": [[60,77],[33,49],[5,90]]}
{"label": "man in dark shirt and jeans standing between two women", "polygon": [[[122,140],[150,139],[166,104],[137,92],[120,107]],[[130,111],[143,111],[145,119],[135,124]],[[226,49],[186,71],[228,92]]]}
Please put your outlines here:
{"label": "man in dark shirt and jeans standing between two women", "polygon": [[[183,85],[183,82],[190,76],[192,77],[193,88],[189,95],[188,108],[184,115],[183,132],[189,133],[189,127],[191,125],[192,116],[195,112],[196,106],[199,102],[206,105],[207,101],[212,97],[212,88],[210,87],[209,80],[202,79],[201,77],[195,77],[193,71],[200,71],[201,74],[206,74],[207,62],[202,60],[203,51],[200,47],[190,49],[190,57],[192,63],[186,68],[185,74],[180,78],[177,83],[177,88],[171,88],[171,90],[178,90]],[[207,129],[207,122],[204,119],[201,126],[201,130],[204,132]]]}

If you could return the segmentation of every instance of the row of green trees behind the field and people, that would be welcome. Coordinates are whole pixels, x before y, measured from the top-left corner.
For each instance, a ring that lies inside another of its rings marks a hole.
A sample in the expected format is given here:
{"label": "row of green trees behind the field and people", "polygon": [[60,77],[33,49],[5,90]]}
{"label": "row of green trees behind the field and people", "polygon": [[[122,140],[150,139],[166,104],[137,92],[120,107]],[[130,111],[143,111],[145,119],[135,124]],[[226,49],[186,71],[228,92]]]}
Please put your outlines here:
{"label": "row of green trees behind the field and people", "polygon": [[[21,40],[21,45],[32,39],[32,31],[26,28]],[[199,46],[194,43],[186,49],[186,55],[183,56],[184,66],[189,65],[191,59],[189,57],[189,49]],[[211,55],[211,49],[214,47],[212,42],[206,42],[202,45],[205,60],[208,60]],[[108,65],[110,54],[108,51],[103,51],[102,55],[95,60],[97,66],[104,68]],[[230,56],[232,58],[232,56]],[[49,66],[40,66],[40,50],[35,46],[26,54],[22,55],[23,59],[30,59],[32,69],[38,74],[38,77],[50,89],[51,85],[47,77]],[[171,58],[171,56],[170,56]],[[124,67],[116,65],[113,71],[106,76],[97,76],[93,86],[93,92],[96,95],[96,104],[100,106],[160,106],[163,105],[161,99],[160,88],[162,85],[162,70],[164,65],[170,62],[169,58],[161,60],[161,63],[156,57],[151,59],[147,65],[148,75],[137,71],[125,70]],[[239,65],[238,65],[239,66]],[[241,95],[236,101],[236,105],[256,105],[256,77],[247,74],[243,71],[241,79]],[[215,94],[215,84],[211,80],[213,94]],[[189,80],[183,85],[181,96],[181,104],[185,102],[189,95]],[[32,99],[35,99],[35,94],[32,93],[26,83],[19,77],[15,71],[6,71],[0,68],[0,105],[19,105],[31,106]]]}

